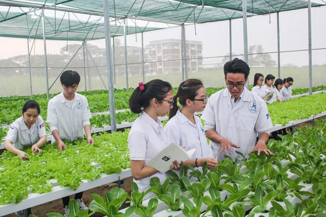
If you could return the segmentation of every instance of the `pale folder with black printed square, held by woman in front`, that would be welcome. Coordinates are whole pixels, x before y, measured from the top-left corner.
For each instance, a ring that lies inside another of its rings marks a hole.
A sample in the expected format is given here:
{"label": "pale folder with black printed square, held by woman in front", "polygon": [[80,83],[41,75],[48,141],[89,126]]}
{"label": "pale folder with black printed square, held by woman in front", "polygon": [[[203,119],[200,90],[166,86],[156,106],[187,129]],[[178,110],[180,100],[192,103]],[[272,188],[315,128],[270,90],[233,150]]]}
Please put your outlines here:
{"label": "pale folder with black printed square, held by woman in front", "polygon": [[189,151],[184,150],[181,146],[171,143],[167,145],[160,153],[158,153],[152,160],[146,163],[146,165],[151,166],[161,173],[165,173],[170,169],[172,162],[177,160],[179,163],[181,161],[186,161],[195,153],[196,148]]}

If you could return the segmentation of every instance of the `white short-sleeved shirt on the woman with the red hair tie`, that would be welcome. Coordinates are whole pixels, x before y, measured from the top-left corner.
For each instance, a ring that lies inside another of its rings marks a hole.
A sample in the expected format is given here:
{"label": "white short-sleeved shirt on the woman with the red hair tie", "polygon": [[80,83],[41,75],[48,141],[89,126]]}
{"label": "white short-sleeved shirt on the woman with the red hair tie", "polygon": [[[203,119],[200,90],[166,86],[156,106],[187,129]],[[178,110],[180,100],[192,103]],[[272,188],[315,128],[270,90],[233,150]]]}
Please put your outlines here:
{"label": "white short-sleeved shirt on the woman with the red hair tie", "polygon": [[[168,145],[168,140],[164,137],[163,124],[157,119],[154,121],[145,111],[132,124],[128,135],[128,148],[130,160],[145,161],[145,164],[154,158],[164,147]],[[157,172],[156,174],[141,179],[134,180],[137,183],[139,191],[146,191],[150,185],[149,180],[152,177],[158,177],[163,183],[167,178],[167,173]],[[154,195],[146,195],[150,198]]]}

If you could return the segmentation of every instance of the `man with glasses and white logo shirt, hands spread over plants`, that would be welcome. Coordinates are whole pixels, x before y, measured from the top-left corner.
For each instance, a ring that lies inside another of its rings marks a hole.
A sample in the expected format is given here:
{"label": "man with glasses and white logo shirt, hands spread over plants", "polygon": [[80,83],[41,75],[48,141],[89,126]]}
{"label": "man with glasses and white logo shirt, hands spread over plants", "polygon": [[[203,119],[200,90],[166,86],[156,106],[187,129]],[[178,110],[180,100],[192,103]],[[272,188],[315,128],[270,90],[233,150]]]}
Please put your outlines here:
{"label": "man with glasses and white logo shirt, hands spread over plants", "polygon": [[[250,68],[238,58],[224,64],[227,88],[217,91],[208,100],[201,118],[205,121],[204,130],[213,149],[214,158],[242,157],[257,151],[273,154],[266,144],[268,130],[273,127],[264,100],[244,87]],[[256,137],[259,140],[256,144]],[[255,145],[256,144],[256,145]],[[223,155],[222,155],[223,154]]]}

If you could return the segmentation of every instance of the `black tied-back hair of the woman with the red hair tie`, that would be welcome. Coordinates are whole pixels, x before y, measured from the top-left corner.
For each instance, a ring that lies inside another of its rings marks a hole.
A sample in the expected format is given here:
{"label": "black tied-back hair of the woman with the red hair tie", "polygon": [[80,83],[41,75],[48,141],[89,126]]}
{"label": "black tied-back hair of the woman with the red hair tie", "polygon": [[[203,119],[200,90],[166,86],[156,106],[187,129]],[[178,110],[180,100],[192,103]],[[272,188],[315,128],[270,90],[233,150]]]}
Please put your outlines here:
{"label": "black tied-back hair of the woman with the red hair tie", "polygon": [[167,81],[154,79],[144,84],[145,90],[141,91],[139,87],[135,88],[129,99],[129,108],[133,113],[139,114],[142,108],[146,109],[152,99],[162,101],[172,86]]}

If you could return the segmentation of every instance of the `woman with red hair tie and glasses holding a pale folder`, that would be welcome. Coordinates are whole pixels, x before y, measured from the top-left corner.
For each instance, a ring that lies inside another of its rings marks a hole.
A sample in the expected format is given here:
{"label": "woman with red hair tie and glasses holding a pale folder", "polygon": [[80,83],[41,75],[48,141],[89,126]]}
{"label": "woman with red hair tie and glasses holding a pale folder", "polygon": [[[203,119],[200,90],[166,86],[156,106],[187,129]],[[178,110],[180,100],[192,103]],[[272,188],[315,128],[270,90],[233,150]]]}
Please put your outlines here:
{"label": "woman with red hair tie and glasses holding a pale folder", "polygon": [[[140,82],[139,87],[133,91],[129,99],[130,110],[133,113],[141,113],[128,135],[131,174],[140,192],[149,189],[149,181],[152,177],[158,177],[161,183],[168,177],[167,173],[160,173],[145,164],[169,145],[158,116],[165,116],[172,107],[172,103],[171,85],[159,79],[146,84]],[[179,163],[174,161],[171,169],[179,168]],[[148,194],[144,199],[152,196],[154,194]]]}

